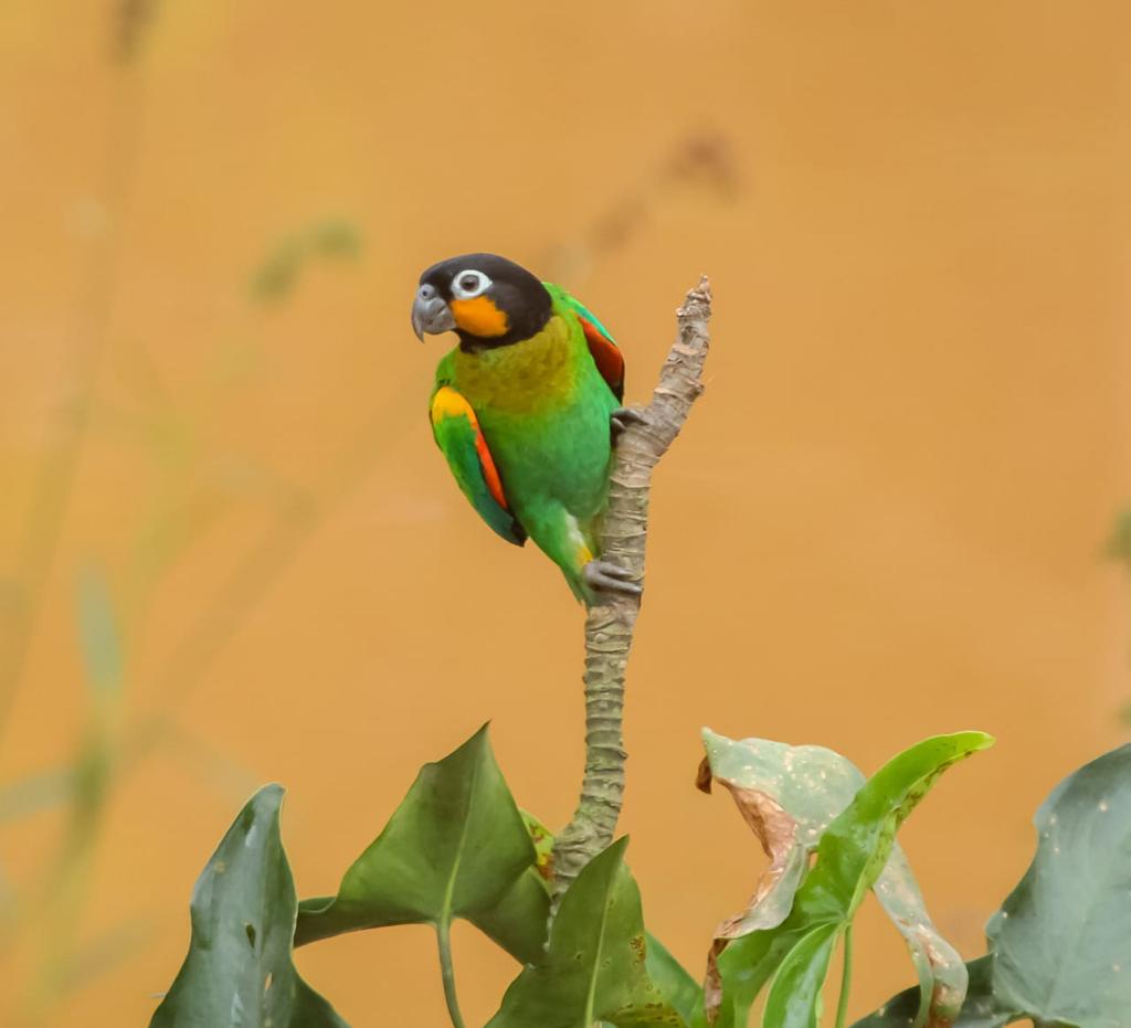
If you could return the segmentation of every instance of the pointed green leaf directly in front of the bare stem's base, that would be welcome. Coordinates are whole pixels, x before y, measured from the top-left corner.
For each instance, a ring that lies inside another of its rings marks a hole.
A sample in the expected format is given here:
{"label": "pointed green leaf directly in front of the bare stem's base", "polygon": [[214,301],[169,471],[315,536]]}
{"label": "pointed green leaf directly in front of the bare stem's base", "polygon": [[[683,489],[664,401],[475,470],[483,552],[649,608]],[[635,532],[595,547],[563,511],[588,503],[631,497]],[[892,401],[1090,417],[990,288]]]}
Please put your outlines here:
{"label": "pointed green leaf directly in front of the bare stem's base", "polygon": [[487,1028],[683,1025],[648,976],[627,845],[620,839],[585,866],[562,898],[546,952],[511,983]]}

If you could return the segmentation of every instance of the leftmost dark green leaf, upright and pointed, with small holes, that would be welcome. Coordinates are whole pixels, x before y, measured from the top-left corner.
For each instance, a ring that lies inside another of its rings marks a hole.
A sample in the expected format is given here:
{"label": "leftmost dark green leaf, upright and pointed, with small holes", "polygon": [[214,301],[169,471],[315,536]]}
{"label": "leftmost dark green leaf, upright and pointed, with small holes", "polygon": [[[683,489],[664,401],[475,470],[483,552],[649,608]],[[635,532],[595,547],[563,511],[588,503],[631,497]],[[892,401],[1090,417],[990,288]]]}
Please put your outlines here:
{"label": "leftmost dark green leaf, upright and pointed, with small holes", "polygon": [[192,890],[192,939],[150,1028],[345,1028],[291,960],[296,898],[279,837],[283,789],[240,811]]}

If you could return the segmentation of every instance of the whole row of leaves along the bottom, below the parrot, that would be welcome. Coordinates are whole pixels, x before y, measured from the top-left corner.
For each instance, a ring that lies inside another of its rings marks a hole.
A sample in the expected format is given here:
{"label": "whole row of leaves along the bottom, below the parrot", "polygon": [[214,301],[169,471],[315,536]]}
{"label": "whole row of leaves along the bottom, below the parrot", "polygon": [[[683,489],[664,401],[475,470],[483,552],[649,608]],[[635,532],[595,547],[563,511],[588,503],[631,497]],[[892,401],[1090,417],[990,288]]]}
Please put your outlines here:
{"label": "whole row of leaves along the bottom, below the parrot", "polygon": [[[283,789],[243,807],[192,895],[192,938],[153,1028],[346,1022],[299,976],[293,947],[366,928],[435,928],[451,1020],[450,926],[465,918],[521,969],[487,1028],[736,1028],[763,997],[763,1028],[815,1028],[852,925],[874,891],[918,984],[854,1028],[1117,1028],[1131,1010],[1131,745],[1062,781],[1036,818],[1037,850],[964,964],[931,922],[896,832],[939,777],[992,744],[935,736],[871,778],[819,746],[705,731],[700,786],[724,785],[770,857],[749,905],[716,933],[705,986],[645,928],[621,838],[582,871],[551,921],[549,832],[516,805],[482,728],[425,764],[334,897],[301,902],[279,835]],[[1122,954],[1122,956],[1121,956]],[[1121,962],[1122,961],[1122,962]]]}

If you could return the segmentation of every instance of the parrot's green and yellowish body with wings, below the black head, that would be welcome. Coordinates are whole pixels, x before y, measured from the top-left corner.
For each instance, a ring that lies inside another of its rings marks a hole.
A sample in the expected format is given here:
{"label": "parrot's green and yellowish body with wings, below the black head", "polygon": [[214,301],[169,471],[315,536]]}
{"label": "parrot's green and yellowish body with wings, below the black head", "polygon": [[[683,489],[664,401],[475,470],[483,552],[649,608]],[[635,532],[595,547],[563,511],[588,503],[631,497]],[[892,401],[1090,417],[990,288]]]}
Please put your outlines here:
{"label": "parrot's green and yellowish body with wings, below the black head", "polygon": [[[589,602],[581,571],[601,552],[610,415],[619,406],[590,346],[610,347],[599,354],[606,364],[610,353],[615,362],[620,355],[584,306],[555,286],[546,290],[552,316],[536,335],[493,348],[457,346],[441,360],[432,424],[456,482],[483,519],[512,543],[534,539],[575,595]],[[459,397],[473,414],[460,408]],[[506,504],[492,494],[492,461]]]}

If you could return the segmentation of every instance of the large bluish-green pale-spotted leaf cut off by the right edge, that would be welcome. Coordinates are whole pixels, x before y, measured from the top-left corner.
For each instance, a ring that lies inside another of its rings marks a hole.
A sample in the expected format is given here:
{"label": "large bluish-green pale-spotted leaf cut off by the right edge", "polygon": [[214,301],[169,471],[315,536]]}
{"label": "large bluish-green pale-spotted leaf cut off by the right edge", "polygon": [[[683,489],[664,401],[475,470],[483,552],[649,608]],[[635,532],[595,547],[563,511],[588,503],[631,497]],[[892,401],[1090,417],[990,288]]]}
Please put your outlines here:
{"label": "large bluish-green pale-spotted leaf cut off by the right edge", "polygon": [[986,928],[994,991],[1050,1023],[1122,1028],[1131,1011],[1131,744],[1065,778],[1037,853]]}

